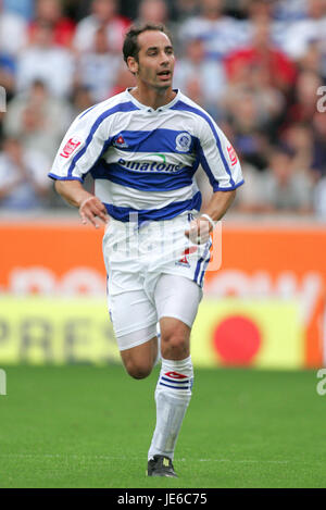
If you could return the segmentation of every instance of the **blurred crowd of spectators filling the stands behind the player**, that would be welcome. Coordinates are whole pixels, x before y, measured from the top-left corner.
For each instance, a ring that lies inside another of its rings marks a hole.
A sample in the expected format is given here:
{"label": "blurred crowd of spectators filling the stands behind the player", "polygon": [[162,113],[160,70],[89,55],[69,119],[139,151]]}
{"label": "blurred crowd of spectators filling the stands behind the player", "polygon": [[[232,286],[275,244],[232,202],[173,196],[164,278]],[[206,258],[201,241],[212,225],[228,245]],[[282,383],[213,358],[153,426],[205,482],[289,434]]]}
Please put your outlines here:
{"label": "blurred crowd of spectators filling the stands behind the player", "polygon": [[0,0],[0,212],[65,207],[53,157],[77,114],[134,86],[123,38],[148,21],[240,158],[234,210],[326,221],[326,0]]}

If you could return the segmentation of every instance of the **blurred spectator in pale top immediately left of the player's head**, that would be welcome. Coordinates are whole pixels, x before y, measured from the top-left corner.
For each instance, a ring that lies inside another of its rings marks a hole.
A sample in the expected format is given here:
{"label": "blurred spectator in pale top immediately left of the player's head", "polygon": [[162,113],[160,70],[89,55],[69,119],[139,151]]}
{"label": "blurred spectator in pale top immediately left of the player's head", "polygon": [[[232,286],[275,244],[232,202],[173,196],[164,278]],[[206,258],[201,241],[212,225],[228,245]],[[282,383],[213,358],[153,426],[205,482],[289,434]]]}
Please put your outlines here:
{"label": "blurred spectator in pale top immediately left of the player's head", "polygon": [[85,51],[77,61],[76,84],[88,88],[93,102],[103,101],[109,97],[121,64],[121,55],[110,51],[106,30],[100,27],[95,35],[93,50]]}

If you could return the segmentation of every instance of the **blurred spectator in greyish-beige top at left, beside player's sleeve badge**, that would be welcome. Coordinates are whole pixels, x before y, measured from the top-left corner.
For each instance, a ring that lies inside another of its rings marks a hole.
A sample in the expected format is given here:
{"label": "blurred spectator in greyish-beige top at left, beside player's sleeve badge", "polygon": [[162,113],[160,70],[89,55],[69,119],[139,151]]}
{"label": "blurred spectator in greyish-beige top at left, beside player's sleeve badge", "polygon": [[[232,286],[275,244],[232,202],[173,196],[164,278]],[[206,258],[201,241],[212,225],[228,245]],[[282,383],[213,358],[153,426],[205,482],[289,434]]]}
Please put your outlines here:
{"label": "blurred spectator in greyish-beige top at left, beside player's sleeve badge", "polygon": [[20,138],[25,149],[52,159],[71,122],[70,103],[51,96],[47,86],[36,80],[11,101],[3,127],[5,135]]}

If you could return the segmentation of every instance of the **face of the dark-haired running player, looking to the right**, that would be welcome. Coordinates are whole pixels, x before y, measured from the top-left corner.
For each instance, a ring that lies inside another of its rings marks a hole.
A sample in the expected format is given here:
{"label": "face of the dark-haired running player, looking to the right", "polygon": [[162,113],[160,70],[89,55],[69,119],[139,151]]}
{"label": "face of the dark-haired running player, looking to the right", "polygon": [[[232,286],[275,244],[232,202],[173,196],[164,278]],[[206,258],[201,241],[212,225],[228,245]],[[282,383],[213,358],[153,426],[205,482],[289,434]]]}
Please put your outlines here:
{"label": "face of the dark-haired running player, looking to the right", "polygon": [[138,80],[150,88],[167,89],[172,86],[175,57],[171,40],[159,30],[143,32],[138,36],[138,61],[133,59]]}

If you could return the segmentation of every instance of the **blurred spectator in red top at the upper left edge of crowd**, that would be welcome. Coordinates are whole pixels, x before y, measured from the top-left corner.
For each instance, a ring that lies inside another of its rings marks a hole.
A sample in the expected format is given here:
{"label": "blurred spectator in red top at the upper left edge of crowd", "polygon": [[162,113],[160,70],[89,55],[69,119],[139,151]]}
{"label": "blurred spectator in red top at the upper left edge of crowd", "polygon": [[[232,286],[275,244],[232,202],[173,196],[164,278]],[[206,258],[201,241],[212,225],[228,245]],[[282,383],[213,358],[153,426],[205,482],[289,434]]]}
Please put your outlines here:
{"label": "blurred spectator in red top at the upper left edge of crowd", "polygon": [[75,23],[63,16],[60,0],[37,0],[35,18],[30,22],[28,33],[29,41],[34,41],[35,30],[39,22],[49,23],[53,27],[53,41],[55,45],[71,48],[75,33]]}

